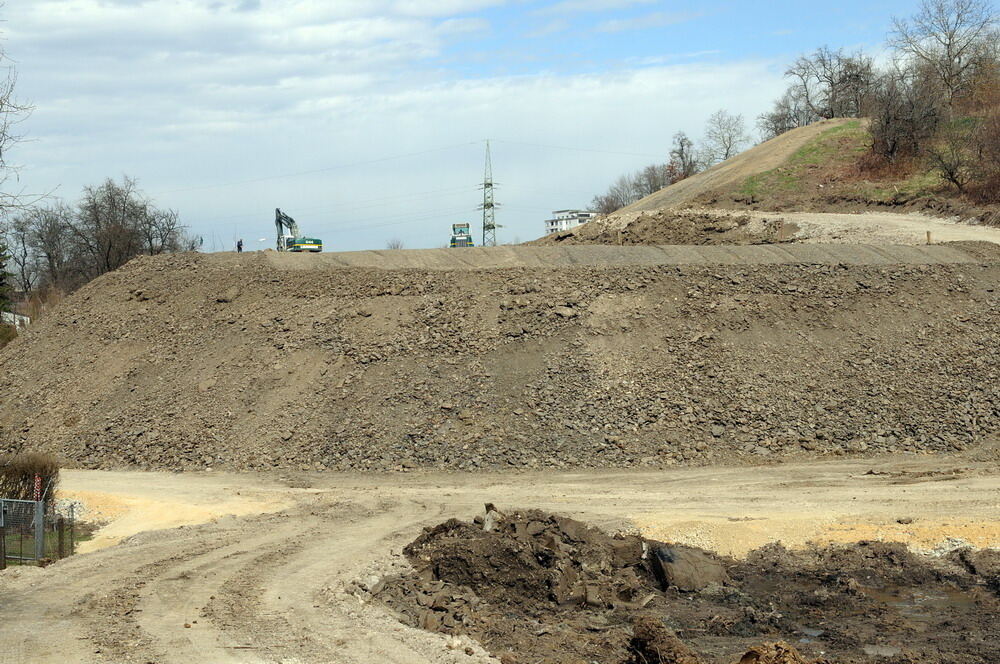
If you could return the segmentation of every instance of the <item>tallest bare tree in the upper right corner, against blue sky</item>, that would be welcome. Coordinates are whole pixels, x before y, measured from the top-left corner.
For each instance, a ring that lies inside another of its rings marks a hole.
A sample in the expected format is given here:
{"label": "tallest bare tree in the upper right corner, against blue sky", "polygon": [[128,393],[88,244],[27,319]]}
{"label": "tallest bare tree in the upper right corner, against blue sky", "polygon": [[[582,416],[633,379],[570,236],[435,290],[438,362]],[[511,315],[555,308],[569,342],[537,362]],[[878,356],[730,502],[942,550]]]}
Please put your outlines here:
{"label": "tallest bare tree in the upper right corner, against blue sky", "polygon": [[910,19],[893,19],[889,44],[934,72],[949,103],[983,57],[995,58],[998,17],[989,0],[921,0]]}

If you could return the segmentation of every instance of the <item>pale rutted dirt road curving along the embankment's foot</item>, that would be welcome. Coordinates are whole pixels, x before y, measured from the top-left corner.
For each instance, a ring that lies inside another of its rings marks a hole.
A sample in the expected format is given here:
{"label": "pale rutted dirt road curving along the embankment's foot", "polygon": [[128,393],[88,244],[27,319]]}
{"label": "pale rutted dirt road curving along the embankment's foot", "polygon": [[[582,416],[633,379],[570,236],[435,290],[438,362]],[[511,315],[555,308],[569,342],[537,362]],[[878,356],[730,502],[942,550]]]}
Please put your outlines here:
{"label": "pale rutted dirt road curving along the embankment's foot", "polygon": [[[69,471],[64,485],[104,506],[116,538],[151,505],[174,512],[154,523],[210,521],[0,574],[0,662],[486,661],[351,589],[401,569],[423,526],[487,501],[736,555],[774,539],[1000,546],[1000,472],[960,456],[562,474]],[[254,509],[283,511],[220,516]]]}

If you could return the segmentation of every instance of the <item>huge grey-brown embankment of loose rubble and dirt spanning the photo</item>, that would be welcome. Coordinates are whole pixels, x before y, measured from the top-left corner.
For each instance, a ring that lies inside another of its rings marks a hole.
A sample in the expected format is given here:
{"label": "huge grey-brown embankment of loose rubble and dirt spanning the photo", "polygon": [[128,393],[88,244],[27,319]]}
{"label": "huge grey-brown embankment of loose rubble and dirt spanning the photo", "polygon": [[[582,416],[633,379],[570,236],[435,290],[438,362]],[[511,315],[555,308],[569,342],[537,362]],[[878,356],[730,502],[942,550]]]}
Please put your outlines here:
{"label": "huge grey-brown embankment of loose rubble and dirt spanning the photo", "polygon": [[1000,430],[998,277],[997,263],[143,259],[0,354],[16,395],[0,451],[481,469],[965,449]]}

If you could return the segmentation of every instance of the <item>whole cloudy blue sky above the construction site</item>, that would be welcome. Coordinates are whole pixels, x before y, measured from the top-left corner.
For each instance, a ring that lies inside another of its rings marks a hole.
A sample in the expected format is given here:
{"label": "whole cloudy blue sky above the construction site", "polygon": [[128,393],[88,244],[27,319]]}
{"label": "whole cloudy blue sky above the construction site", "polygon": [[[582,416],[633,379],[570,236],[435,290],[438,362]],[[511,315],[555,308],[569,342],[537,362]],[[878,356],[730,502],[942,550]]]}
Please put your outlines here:
{"label": "whole cloudy blue sky above the construction site", "polygon": [[488,139],[498,240],[526,241],[716,110],[753,127],[798,55],[877,52],[915,4],[6,0],[34,106],[6,156],[71,204],[137,178],[209,251],[272,246],[276,207],[327,251],[423,248],[481,223]]}

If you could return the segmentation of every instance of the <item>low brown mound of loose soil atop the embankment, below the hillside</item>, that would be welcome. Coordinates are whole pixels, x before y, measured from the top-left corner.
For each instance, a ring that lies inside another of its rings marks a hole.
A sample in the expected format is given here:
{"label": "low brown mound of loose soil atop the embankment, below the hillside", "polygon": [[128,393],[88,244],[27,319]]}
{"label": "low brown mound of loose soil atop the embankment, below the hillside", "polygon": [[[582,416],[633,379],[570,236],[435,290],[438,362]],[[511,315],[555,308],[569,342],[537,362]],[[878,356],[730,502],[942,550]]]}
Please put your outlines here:
{"label": "low brown mound of loose soil atop the embankment, below the hillside", "polygon": [[746,245],[783,239],[780,217],[722,210],[655,210],[615,213],[529,244]]}

